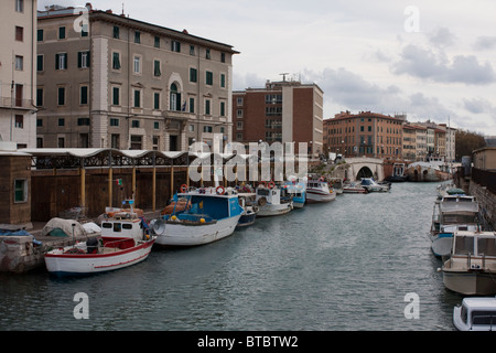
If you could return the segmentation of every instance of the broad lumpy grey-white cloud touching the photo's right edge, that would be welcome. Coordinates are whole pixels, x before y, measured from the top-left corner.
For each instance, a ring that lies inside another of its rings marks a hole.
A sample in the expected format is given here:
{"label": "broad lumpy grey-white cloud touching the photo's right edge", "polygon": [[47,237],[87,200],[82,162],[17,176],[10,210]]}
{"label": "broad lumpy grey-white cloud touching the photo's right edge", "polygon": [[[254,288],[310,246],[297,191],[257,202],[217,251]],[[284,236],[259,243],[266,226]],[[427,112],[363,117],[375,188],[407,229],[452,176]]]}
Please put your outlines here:
{"label": "broad lumpy grey-white cloud touching the photo's right edge", "polygon": [[392,73],[432,79],[440,83],[487,85],[496,82],[493,66],[481,64],[474,55],[456,55],[450,61],[444,52],[434,53],[417,45],[407,45],[401,61],[392,64]]}

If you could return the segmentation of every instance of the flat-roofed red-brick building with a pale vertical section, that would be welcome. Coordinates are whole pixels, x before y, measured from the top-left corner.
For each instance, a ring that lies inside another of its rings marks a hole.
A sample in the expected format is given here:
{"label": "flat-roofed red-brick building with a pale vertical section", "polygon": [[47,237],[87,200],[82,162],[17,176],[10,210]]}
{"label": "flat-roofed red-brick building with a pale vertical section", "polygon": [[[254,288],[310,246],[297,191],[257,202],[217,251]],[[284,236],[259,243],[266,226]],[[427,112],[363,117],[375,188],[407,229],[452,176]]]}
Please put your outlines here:
{"label": "flat-roofed red-brick building with a pale vertical section", "polygon": [[233,92],[233,140],[308,143],[308,153],[323,150],[324,92],[299,81],[270,82],[262,88]]}

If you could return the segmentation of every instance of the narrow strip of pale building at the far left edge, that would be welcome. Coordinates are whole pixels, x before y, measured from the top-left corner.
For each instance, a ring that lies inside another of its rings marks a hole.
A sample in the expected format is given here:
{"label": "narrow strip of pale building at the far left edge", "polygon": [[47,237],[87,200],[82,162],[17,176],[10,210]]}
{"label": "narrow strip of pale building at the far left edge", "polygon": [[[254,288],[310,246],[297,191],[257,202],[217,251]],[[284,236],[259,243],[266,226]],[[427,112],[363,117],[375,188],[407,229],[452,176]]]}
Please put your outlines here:
{"label": "narrow strip of pale building at the far left edge", "polygon": [[36,0],[0,1],[0,141],[35,147]]}

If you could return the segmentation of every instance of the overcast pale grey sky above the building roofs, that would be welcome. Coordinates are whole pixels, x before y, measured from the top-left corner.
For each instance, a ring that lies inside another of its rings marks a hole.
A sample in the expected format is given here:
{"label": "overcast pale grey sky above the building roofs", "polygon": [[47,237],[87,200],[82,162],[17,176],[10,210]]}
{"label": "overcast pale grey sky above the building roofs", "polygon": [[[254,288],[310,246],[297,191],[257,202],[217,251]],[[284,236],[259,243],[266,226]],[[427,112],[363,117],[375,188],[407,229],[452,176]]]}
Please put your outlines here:
{"label": "overcast pale grey sky above the building roofs", "polygon": [[[39,10],[85,2],[39,0]],[[324,90],[325,119],[342,110],[407,114],[496,136],[494,0],[90,2],[233,45],[235,90],[289,73]]]}

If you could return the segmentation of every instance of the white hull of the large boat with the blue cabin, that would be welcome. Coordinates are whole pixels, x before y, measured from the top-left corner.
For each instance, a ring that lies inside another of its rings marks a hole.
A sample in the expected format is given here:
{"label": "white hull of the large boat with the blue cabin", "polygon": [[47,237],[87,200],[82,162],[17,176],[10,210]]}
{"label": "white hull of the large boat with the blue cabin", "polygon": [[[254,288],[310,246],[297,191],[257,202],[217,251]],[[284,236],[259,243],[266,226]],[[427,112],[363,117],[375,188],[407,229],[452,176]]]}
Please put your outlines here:
{"label": "white hull of the large boat with the blue cabin", "polygon": [[241,215],[218,220],[213,224],[188,225],[168,223],[163,234],[157,237],[161,246],[197,246],[225,238],[234,233]]}

